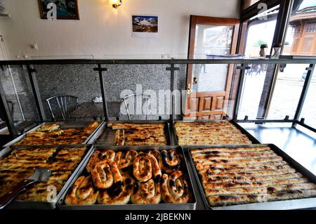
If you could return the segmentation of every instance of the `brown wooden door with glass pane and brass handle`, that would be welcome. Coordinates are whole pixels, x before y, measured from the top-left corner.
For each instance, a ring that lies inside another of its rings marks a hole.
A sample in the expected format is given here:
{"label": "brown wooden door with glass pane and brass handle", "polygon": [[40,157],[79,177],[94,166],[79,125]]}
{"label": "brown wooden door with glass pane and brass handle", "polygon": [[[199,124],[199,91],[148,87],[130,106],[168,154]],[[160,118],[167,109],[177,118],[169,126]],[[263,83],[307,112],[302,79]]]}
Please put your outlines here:
{"label": "brown wooden door with glass pane and brass handle", "polygon": [[[207,58],[207,55],[235,54],[238,31],[237,19],[191,15],[188,58],[200,59]],[[233,68],[234,65],[187,66],[185,117],[222,119],[225,116]]]}

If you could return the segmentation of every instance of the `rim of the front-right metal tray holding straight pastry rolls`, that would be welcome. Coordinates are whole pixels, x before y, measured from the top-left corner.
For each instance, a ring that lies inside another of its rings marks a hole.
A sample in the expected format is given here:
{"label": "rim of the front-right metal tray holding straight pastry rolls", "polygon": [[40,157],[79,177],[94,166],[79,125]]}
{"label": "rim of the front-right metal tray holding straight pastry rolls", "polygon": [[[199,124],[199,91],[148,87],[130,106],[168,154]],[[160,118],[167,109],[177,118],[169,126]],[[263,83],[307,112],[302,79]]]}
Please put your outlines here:
{"label": "rim of the front-right metal tray holding straight pastry rolls", "polygon": [[310,183],[316,184],[316,176],[305,169],[301,164],[298,164],[294,159],[292,159],[287,153],[283,152],[276,145],[272,144],[252,144],[252,145],[195,145],[195,146],[185,146],[183,150],[185,150],[188,154],[193,173],[195,175],[195,179],[197,180],[197,186],[199,187],[199,192],[201,193],[202,200],[206,209],[212,210],[286,210],[286,209],[310,209],[316,208],[316,198],[308,198],[308,199],[291,199],[277,202],[261,202],[261,203],[252,203],[252,204],[240,204],[240,205],[232,205],[232,206],[218,206],[211,207],[209,202],[207,202],[206,196],[204,194],[204,189],[202,187],[202,183],[199,179],[199,175],[197,173],[197,169],[195,169],[195,164],[191,157],[190,150],[198,149],[198,148],[212,148],[212,147],[270,147],[279,157],[282,157],[285,162],[290,164],[292,168],[296,169],[299,173],[303,174],[305,178],[310,180]]}

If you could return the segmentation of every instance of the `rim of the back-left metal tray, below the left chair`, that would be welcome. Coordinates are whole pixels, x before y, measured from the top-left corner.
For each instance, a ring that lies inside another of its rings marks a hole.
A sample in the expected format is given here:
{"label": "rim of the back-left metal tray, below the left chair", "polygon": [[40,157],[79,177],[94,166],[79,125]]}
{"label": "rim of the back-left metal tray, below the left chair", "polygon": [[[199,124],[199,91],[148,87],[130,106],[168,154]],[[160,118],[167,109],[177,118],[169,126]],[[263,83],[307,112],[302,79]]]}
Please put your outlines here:
{"label": "rim of the back-left metal tray, below the left chair", "polygon": [[[3,147],[9,147],[11,145],[14,145],[15,143],[18,143],[20,140],[22,140],[23,138],[25,138],[27,136],[27,133],[29,132],[33,132],[33,131],[37,131],[37,129],[39,129],[41,126],[43,126],[44,124],[58,124],[60,126],[60,129],[84,129],[88,124],[90,124],[92,121],[57,121],[57,122],[44,122],[42,124],[39,124],[37,126],[35,126],[33,129],[30,129],[29,131],[27,131],[26,133],[22,134],[21,136],[19,136],[18,138],[15,138],[13,140],[11,140],[11,142],[6,143],[6,145],[4,145]],[[88,138],[84,141],[84,143],[82,144],[88,144],[88,141],[92,138],[92,136],[98,131],[98,129],[100,129],[100,126],[102,126],[102,124],[104,123],[104,121],[100,122],[99,126],[93,131],[93,133],[91,133],[90,136],[88,136]]]}

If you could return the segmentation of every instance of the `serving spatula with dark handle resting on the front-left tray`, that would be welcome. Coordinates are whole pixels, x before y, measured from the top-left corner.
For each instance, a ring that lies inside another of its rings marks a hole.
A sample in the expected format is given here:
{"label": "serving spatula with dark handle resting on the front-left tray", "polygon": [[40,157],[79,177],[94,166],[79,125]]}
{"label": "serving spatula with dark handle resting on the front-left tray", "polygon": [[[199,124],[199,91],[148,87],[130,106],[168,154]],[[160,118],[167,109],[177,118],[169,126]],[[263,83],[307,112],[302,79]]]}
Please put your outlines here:
{"label": "serving spatula with dark handle resting on the front-left tray", "polygon": [[20,192],[25,191],[27,187],[37,182],[46,182],[50,176],[51,171],[49,169],[34,168],[34,173],[29,176],[29,178],[22,180],[18,183],[18,185],[13,187],[10,192],[7,192],[5,195],[0,197],[0,210],[10,204],[10,202],[12,202],[13,199],[20,194]]}

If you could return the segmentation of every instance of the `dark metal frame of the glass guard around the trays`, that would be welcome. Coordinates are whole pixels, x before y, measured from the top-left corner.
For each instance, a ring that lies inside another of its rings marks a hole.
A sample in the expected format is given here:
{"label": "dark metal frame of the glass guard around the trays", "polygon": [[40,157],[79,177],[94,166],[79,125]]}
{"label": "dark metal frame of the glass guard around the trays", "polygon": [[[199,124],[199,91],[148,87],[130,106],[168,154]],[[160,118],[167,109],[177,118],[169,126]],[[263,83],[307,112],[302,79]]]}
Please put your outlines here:
{"label": "dark metal frame of the glass guard around the trays", "polygon": [[[291,57],[282,57],[280,56],[279,59],[269,59],[269,58],[257,58],[257,59],[235,59],[235,58],[220,58],[220,59],[161,59],[161,60],[86,60],[86,59],[66,59],[66,60],[4,60],[0,61],[0,66],[4,67],[6,65],[21,65],[24,67],[26,65],[27,67],[27,72],[29,73],[29,81],[32,84],[32,91],[34,94],[34,100],[36,101],[37,105],[37,111],[39,114],[39,121],[37,121],[37,124],[42,123],[41,121],[44,121],[45,114],[44,114],[44,107],[43,103],[41,101],[41,96],[39,94],[39,87],[37,85],[37,80],[36,80],[36,70],[32,68],[33,65],[98,65],[98,67],[94,68],[93,71],[97,71],[99,73],[99,79],[100,79],[100,88],[101,88],[101,93],[102,93],[102,98],[103,98],[103,110],[105,114],[105,121],[108,121],[108,115],[107,115],[107,104],[106,104],[106,98],[105,98],[105,86],[104,86],[104,81],[103,81],[103,74],[107,72],[107,68],[103,67],[104,65],[168,65],[166,67],[166,70],[170,72],[171,76],[171,84],[170,84],[170,89],[171,91],[174,90],[174,75],[175,71],[179,70],[179,67],[177,65],[187,65],[187,64],[235,64],[237,65],[237,70],[240,70],[239,78],[237,80],[238,83],[238,88],[237,88],[237,98],[235,100],[235,105],[234,105],[234,110],[233,110],[233,117],[232,119],[236,122],[252,122],[252,123],[267,123],[269,122],[291,122],[293,123],[294,126],[296,124],[301,125],[305,127],[305,129],[309,129],[310,131],[316,132],[316,129],[312,126],[309,126],[308,124],[305,124],[305,119],[299,119],[299,116],[301,114],[301,110],[303,108],[303,103],[305,100],[305,97],[308,93],[308,87],[310,85],[310,81],[312,79],[312,74],[315,70],[315,64],[316,64],[316,57],[306,57],[306,56],[295,56],[293,58]],[[308,70],[308,74],[305,79],[305,83],[303,86],[303,90],[301,93],[301,98],[298,103],[298,107],[296,110],[296,116],[294,119],[277,119],[277,120],[268,120],[268,119],[255,119],[255,120],[249,120],[247,117],[243,120],[238,120],[238,109],[240,105],[240,100],[241,100],[241,95],[242,95],[242,86],[243,86],[243,79],[244,79],[244,73],[248,68],[249,64],[309,64],[310,66],[306,69]],[[0,89],[1,90],[1,89]],[[2,91],[4,92],[4,91]],[[2,93],[1,92],[1,93]],[[13,138],[17,137],[17,130],[15,129],[14,126],[14,121],[13,118],[10,116],[10,112],[8,110],[8,107],[5,107],[5,97],[4,93],[1,94],[0,98],[0,110],[4,110],[5,114],[7,116],[5,117],[6,119],[6,124],[8,125],[8,131],[11,133]],[[176,114],[175,114],[175,99],[174,96],[171,98],[171,108],[172,108],[172,113],[170,115],[169,120],[173,121],[175,119]],[[1,107],[2,105],[2,107]]]}

